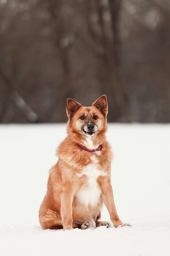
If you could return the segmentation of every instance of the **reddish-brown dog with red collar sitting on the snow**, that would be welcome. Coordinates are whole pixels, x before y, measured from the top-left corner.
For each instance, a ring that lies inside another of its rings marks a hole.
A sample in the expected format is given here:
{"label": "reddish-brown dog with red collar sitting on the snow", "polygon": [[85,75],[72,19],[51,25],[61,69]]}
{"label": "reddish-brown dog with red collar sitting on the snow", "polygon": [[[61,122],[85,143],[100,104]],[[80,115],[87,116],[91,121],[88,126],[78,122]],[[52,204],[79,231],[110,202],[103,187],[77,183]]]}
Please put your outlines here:
{"label": "reddish-brown dog with red collar sitting on the snow", "polygon": [[50,169],[47,192],[39,210],[43,229],[72,229],[99,226],[105,203],[114,227],[123,223],[116,211],[111,186],[112,152],[106,140],[107,97],[92,106],[67,99],[67,137],[57,150],[58,162]]}

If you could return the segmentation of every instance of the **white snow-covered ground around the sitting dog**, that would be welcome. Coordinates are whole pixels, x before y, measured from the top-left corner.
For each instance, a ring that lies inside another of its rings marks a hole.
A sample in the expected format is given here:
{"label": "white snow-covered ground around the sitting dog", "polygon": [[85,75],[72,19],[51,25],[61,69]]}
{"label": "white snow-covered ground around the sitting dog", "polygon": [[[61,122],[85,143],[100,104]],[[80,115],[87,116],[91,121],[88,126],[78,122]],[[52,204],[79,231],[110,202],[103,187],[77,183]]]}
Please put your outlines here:
{"label": "white snow-covered ground around the sitting dog", "polygon": [[132,224],[117,229],[40,228],[48,169],[65,135],[66,124],[0,125],[0,255],[170,255],[170,125],[108,125],[115,203]]}

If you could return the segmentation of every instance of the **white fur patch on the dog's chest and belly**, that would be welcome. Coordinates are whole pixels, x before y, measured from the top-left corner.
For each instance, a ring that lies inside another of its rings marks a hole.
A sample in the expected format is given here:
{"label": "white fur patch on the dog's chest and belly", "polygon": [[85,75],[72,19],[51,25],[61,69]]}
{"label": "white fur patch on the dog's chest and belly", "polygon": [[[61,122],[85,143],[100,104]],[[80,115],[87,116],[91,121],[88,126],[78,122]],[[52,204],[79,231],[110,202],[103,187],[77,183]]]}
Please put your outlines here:
{"label": "white fur patch on the dog's chest and belly", "polygon": [[77,200],[86,206],[89,204],[91,206],[95,206],[99,202],[101,197],[101,189],[97,179],[99,176],[106,175],[106,173],[100,169],[98,160],[94,155],[91,157],[91,160],[93,163],[85,166],[82,173],[78,175],[79,177],[85,176],[85,179],[83,185],[75,195]]}

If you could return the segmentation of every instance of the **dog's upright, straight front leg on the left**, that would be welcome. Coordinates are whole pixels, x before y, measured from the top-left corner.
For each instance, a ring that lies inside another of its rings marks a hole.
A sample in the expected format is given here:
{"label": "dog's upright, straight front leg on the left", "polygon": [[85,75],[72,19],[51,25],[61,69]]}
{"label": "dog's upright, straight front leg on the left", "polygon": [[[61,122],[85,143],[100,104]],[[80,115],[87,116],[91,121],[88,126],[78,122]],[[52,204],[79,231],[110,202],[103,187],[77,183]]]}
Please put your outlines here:
{"label": "dog's upright, straight front leg on the left", "polygon": [[60,200],[61,200],[61,216],[63,229],[72,229],[72,200],[74,198],[74,190],[68,184],[67,186],[62,186],[60,190]]}

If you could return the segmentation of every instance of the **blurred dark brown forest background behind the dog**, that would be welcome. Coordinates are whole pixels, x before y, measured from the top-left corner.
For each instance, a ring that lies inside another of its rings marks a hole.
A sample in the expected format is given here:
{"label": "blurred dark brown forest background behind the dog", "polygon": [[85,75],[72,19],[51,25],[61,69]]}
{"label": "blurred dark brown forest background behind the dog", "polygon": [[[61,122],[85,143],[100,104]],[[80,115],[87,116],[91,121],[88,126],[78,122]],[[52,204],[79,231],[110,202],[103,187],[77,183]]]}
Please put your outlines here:
{"label": "blurred dark brown forest background behind the dog", "polygon": [[169,0],[0,0],[0,122],[170,122]]}

